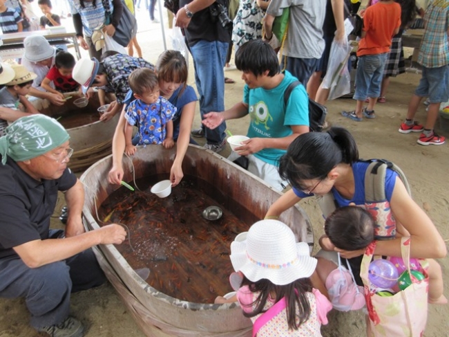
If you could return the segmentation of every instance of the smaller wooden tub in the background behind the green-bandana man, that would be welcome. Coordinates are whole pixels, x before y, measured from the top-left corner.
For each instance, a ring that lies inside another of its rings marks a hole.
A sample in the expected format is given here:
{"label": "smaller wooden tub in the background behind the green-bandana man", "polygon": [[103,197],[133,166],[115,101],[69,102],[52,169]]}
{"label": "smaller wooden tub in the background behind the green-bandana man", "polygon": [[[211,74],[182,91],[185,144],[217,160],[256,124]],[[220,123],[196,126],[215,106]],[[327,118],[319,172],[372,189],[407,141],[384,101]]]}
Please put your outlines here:
{"label": "smaller wooden tub in the background behind the green-bandana man", "polygon": [[72,98],[68,99],[61,107],[50,104],[48,100],[41,100],[39,98],[32,100],[32,104],[41,113],[53,118],[60,118],[59,122],[62,125],[64,125],[66,117],[73,115],[73,113],[90,117],[85,118],[85,122],[82,125],[66,127],[68,134],[70,134],[70,147],[75,150],[68,166],[74,172],[79,172],[85,170],[99,159],[111,154],[112,138],[119,114],[117,113],[114,118],[107,122],[100,122],[97,112],[99,107],[97,93],[90,98],[88,105],[84,108],[76,107],[73,104],[73,101],[79,98],[78,92],[66,93],[64,95],[66,97],[72,96]]}

